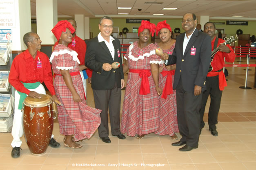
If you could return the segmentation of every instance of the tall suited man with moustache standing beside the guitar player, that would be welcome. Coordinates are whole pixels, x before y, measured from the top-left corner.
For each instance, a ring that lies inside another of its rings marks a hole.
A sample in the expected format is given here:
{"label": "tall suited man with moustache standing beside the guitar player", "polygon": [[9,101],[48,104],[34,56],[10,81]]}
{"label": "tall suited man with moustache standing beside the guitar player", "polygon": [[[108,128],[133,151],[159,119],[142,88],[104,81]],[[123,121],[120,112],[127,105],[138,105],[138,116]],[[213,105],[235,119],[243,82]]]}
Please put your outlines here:
{"label": "tall suited man with moustache standing beside the guitar player", "polygon": [[178,35],[172,55],[164,54],[168,64],[176,63],[173,88],[176,89],[178,128],[182,138],[173,146],[183,146],[180,151],[198,148],[200,135],[199,109],[202,91],[206,89],[206,75],[211,60],[211,38],[196,29],[196,15],[186,13],[182,28],[186,31]]}

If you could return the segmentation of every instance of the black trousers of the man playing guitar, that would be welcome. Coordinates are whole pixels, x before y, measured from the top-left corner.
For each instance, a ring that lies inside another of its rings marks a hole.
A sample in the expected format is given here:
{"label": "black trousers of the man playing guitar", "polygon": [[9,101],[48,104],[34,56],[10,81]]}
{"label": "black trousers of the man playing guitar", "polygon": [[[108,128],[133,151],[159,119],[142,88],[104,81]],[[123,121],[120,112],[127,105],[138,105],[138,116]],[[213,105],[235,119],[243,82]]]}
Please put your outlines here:
{"label": "black trousers of the man playing guitar", "polygon": [[203,117],[205,113],[205,105],[210,95],[211,103],[208,113],[208,124],[210,129],[216,129],[216,124],[218,123],[218,113],[220,110],[220,101],[222,96],[222,91],[220,91],[219,89],[219,76],[217,75],[214,77],[207,77],[206,88],[207,90],[203,92],[202,107],[200,109],[200,127],[203,128],[205,126]]}

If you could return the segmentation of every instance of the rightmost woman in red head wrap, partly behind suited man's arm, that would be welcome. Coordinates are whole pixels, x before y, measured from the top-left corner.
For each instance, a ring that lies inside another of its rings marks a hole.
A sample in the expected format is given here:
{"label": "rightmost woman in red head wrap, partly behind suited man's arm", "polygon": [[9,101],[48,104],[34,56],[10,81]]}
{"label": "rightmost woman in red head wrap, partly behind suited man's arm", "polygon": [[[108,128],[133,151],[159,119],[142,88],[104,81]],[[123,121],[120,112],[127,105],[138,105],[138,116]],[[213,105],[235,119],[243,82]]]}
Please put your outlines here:
{"label": "rightmost woman in red head wrap, partly behind suited man's arm", "polygon": [[[159,34],[161,42],[155,43],[156,47],[163,49],[164,53],[172,54],[176,40],[171,39],[171,27],[165,21],[158,22],[156,26],[156,35]],[[174,82],[174,73],[176,65],[159,66],[159,87],[163,89],[163,94],[160,96],[160,126],[156,134],[169,135],[171,139],[177,140],[175,134],[179,132],[177,121],[177,105],[176,105],[176,91],[172,89]]]}

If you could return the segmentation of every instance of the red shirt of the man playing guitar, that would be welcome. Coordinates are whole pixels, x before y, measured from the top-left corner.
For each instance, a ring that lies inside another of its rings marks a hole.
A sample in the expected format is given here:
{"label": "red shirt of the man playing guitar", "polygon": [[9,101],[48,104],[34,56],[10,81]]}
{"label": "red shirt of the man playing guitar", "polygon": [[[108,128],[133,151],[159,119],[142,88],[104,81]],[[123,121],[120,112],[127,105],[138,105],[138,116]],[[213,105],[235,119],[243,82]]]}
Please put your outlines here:
{"label": "red shirt of the man playing guitar", "polygon": [[[214,38],[214,40],[211,41],[211,51],[214,50],[214,41],[215,41],[215,39],[216,39],[216,37]],[[223,43],[223,42],[225,42],[225,41],[219,38],[217,47],[219,46],[220,43]],[[229,47],[230,53],[225,53],[225,52],[218,51],[214,55],[214,59],[211,62],[211,66],[213,68],[212,72],[216,72],[216,71],[220,70],[221,68],[223,68],[223,66],[225,64],[224,57],[225,57],[225,60],[227,62],[234,62],[235,61],[236,54],[234,53],[234,50],[231,48],[231,46],[229,44],[227,44],[226,46]]]}

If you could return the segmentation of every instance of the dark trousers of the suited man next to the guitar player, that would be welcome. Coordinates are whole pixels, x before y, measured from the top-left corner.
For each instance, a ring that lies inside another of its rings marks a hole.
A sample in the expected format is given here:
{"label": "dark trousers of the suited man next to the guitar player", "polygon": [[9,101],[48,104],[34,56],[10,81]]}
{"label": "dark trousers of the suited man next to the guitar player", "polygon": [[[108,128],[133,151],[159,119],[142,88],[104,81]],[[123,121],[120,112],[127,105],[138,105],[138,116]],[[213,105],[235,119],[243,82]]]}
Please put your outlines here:
{"label": "dark trousers of the suited man next to the guitar player", "polygon": [[182,138],[188,146],[198,146],[200,135],[200,114],[202,93],[195,96],[193,92],[183,89],[181,79],[176,87],[178,128]]}

